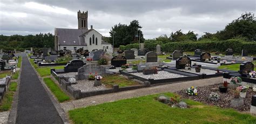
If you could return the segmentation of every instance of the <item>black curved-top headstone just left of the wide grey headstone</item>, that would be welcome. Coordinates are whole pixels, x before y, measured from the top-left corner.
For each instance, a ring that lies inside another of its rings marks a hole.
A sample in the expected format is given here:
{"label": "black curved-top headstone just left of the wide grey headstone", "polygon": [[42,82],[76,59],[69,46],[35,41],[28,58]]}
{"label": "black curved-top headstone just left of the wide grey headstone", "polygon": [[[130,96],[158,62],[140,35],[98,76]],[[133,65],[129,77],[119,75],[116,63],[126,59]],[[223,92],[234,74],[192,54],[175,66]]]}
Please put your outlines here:
{"label": "black curved-top headstone just left of the wide grey headstone", "polygon": [[68,64],[65,65],[65,72],[77,72],[78,68],[83,67],[84,62],[79,59],[71,60]]}

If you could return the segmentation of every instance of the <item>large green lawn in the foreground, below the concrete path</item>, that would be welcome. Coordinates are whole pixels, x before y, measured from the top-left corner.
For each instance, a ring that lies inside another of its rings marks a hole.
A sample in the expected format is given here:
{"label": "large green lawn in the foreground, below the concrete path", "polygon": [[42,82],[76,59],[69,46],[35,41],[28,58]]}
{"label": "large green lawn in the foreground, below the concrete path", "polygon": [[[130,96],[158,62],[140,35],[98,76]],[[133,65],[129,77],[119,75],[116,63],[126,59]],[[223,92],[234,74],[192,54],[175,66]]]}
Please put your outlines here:
{"label": "large green lawn in the foreground, below the concrete path", "polygon": [[[164,93],[173,96],[172,93]],[[69,111],[73,123],[255,123],[256,118],[234,109],[184,100],[191,108],[172,108],[157,101],[158,94],[107,102]]]}

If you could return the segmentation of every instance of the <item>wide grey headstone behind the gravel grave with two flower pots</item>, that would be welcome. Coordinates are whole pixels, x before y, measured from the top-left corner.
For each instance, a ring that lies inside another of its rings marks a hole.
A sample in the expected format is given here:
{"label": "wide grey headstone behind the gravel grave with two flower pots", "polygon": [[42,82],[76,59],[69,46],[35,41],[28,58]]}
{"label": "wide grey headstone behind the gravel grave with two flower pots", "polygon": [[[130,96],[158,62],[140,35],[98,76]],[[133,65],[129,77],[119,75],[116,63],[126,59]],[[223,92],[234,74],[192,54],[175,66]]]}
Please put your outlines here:
{"label": "wide grey headstone behind the gravel grave with two flower pots", "polygon": [[106,75],[106,68],[98,64],[84,65],[78,69],[78,80],[88,79],[89,74],[99,74],[101,76]]}

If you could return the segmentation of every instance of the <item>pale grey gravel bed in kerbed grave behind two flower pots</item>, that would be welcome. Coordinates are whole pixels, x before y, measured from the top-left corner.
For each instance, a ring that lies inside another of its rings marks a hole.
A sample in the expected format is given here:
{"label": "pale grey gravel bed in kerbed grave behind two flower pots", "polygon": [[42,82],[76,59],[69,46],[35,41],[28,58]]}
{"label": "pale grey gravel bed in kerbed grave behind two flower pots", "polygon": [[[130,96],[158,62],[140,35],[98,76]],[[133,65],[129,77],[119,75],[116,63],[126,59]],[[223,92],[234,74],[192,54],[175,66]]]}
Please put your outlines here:
{"label": "pale grey gravel bed in kerbed grave behind two flower pots", "polygon": [[77,84],[72,84],[71,86],[75,89],[80,89],[81,92],[99,91],[102,89],[107,89],[104,84],[95,87],[94,80],[78,80]]}

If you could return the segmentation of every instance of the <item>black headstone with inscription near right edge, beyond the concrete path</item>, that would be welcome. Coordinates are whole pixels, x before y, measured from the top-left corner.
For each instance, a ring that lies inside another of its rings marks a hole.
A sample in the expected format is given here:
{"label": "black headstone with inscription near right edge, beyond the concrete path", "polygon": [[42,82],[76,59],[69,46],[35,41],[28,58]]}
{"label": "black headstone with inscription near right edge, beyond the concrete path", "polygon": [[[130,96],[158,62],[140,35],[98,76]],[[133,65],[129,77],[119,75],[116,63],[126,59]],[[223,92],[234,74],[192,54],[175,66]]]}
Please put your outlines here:
{"label": "black headstone with inscription near right edge, beyond the concrete path", "polygon": [[254,70],[254,64],[252,62],[244,62],[240,64],[240,70],[239,73],[243,76],[246,77],[247,74],[251,71]]}

